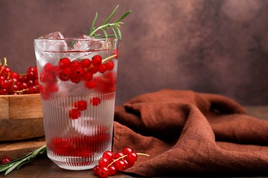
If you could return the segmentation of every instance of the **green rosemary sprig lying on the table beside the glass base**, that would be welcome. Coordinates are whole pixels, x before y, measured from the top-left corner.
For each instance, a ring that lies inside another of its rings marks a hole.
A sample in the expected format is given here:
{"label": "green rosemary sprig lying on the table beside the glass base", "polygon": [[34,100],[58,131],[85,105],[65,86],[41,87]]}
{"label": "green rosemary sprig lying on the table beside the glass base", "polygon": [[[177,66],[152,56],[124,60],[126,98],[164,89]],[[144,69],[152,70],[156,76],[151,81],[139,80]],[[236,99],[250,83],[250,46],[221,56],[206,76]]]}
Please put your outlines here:
{"label": "green rosemary sprig lying on the table beside the glass base", "polygon": [[23,164],[26,164],[27,162],[34,160],[34,158],[37,155],[43,155],[43,153],[46,153],[46,151],[47,151],[47,147],[44,145],[40,147],[39,149],[36,149],[23,157],[20,157],[16,160],[0,165],[0,173],[5,172],[4,175],[8,175],[8,173],[10,173],[15,168],[16,170],[19,170],[19,168],[21,168]]}

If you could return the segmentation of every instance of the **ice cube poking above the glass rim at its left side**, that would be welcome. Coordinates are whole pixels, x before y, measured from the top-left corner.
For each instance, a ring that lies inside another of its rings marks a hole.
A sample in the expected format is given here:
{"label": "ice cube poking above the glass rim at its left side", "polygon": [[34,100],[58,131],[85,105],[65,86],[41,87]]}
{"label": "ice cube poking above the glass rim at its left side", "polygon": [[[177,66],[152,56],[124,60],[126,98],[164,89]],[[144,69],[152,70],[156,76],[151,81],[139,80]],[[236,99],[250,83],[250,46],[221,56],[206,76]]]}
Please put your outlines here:
{"label": "ice cube poking above the glass rim at its left side", "polygon": [[36,40],[36,47],[41,49],[42,51],[67,51],[68,45],[64,40],[63,34],[59,31],[46,34],[44,36],[39,37],[38,39],[46,39],[46,40]]}

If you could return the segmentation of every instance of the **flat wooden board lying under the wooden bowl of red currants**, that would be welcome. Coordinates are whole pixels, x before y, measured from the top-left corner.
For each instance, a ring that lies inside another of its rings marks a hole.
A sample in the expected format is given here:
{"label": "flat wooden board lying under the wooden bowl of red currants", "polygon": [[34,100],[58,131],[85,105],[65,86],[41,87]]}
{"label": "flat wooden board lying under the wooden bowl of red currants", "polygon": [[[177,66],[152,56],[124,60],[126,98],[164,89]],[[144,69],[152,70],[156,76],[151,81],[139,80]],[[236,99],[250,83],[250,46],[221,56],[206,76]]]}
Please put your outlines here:
{"label": "flat wooden board lying under the wooden bowl of red currants", "polygon": [[24,141],[0,142],[0,158],[8,155],[12,160],[15,160],[43,145],[45,145],[45,137]]}

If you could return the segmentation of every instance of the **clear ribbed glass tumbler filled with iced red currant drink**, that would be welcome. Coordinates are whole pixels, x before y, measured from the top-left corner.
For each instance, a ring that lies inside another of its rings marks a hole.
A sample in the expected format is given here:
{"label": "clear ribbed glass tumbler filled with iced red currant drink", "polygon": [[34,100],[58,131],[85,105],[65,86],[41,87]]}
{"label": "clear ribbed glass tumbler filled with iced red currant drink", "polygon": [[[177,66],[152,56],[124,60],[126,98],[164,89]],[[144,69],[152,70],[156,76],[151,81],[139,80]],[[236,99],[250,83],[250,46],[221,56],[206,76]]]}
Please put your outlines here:
{"label": "clear ribbed glass tumbler filled with iced red currant drink", "polygon": [[85,170],[111,151],[118,39],[34,40],[47,156]]}

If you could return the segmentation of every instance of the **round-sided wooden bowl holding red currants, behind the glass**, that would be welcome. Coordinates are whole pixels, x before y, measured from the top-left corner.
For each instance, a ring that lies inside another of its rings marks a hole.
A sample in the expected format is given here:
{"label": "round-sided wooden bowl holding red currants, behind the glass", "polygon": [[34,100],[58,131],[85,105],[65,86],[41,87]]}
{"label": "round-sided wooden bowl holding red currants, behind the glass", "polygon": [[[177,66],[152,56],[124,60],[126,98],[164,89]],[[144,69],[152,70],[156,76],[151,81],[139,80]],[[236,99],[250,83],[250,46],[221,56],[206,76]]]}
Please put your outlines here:
{"label": "round-sided wooden bowl holding red currants, behind the glass", "polygon": [[0,141],[44,136],[40,94],[0,95]]}

